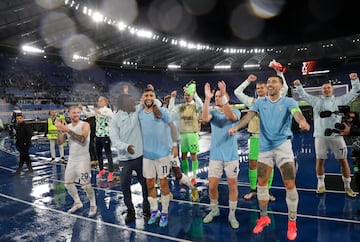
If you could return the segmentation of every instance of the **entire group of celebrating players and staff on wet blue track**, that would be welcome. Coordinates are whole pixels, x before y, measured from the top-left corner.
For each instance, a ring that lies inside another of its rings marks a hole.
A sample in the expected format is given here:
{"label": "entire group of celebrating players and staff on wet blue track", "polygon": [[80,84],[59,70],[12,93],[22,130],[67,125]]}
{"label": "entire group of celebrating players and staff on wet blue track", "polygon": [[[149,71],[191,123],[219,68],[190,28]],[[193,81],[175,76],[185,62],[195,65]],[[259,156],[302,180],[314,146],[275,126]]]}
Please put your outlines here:
{"label": "entire group of celebrating players and staff on wet blue track", "polygon": [[[219,81],[217,86],[206,83],[204,101],[197,95],[196,89],[199,87],[196,87],[195,82],[190,82],[184,87],[185,102],[177,105],[175,105],[176,91],[161,103],[156,97],[153,86],[148,85],[140,103],[124,89],[124,93],[118,97],[118,110],[115,113],[108,107],[107,98],[99,97],[97,108],[82,105],[70,107],[68,123],[63,118],[56,118],[55,114],[51,115],[46,135],[51,141],[52,160],[55,159],[55,143],[60,147],[67,141],[69,147],[64,180],[74,204],[68,212],[75,213],[83,206],[75,186],[80,179],[80,184],[90,200],[89,217],[96,215],[96,197],[91,186],[91,161],[98,161],[97,178],[104,179],[107,174],[105,179],[112,181],[114,164],[111,147],[114,147],[118,153],[120,183],[127,207],[125,222],[130,223],[135,220],[130,189],[135,171],[137,180],[142,186],[142,209],[147,224],[167,226],[171,200],[168,176],[171,171],[180,184],[189,187],[192,200],[199,200],[196,174],[199,167],[197,153],[200,120],[202,124],[209,123],[211,127],[208,167],[210,212],[203,218],[203,222],[210,223],[220,215],[218,185],[225,172],[229,190],[228,221],[233,229],[239,227],[235,215],[239,174],[236,133],[240,129],[247,128],[250,134],[248,142],[250,190],[244,198],[249,200],[257,197],[260,209],[259,219],[252,232],[261,233],[271,223],[267,209],[268,203],[276,200],[269,190],[274,175],[273,169],[276,166],[286,189],[287,238],[295,240],[299,198],[295,185],[292,120],[296,121],[300,130],[309,131],[310,125],[298,103],[293,98],[286,97],[288,86],[283,75],[285,68],[276,61],[270,62],[269,67],[276,73],[270,75],[266,81],[259,81],[255,75],[250,74],[234,90],[235,96],[249,109],[243,117],[241,112],[229,103],[230,97],[224,81]],[[339,105],[346,105],[358,96],[357,92],[360,91],[358,76],[356,73],[350,73],[349,77],[352,89],[340,97],[333,95],[331,83],[322,85],[321,96],[308,94],[299,80],[293,83],[299,96],[313,107],[318,194],[326,192],[324,162],[328,150],[331,150],[340,164],[346,195],[356,196],[350,187],[351,172],[343,136],[338,133],[325,135],[325,129],[332,128],[334,123],[339,122],[339,117],[320,117],[322,111],[336,111]],[[256,82],[256,98],[244,93],[252,82]],[[211,106],[213,98],[215,105]],[[87,120],[83,121],[82,115],[85,115]],[[16,144],[20,150],[17,174],[20,173],[24,163],[32,172],[28,156],[30,140],[26,139],[24,117],[20,114],[16,120],[18,123]],[[104,169],[103,150],[107,157],[108,172]],[[60,153],[61,159],[64,159],[64,151],[60,150]],[[161,190],[161,205],[157,198],[156,184]]]}

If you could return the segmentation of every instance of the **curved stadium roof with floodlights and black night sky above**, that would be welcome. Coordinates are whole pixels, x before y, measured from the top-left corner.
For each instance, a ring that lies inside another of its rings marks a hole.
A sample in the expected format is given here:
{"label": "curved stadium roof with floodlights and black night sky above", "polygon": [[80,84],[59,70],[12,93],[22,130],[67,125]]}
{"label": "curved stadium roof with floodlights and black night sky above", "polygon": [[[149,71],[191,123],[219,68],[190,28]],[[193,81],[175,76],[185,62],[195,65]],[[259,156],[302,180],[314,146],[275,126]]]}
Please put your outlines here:
{"label": "curved stadium roof with floodlights and black night sky above", "polygon": [[[81,69],[261,69],[360,61],[356,1],[1,0],[0,49]],[[25,47],[24,47],[25,46]]]}

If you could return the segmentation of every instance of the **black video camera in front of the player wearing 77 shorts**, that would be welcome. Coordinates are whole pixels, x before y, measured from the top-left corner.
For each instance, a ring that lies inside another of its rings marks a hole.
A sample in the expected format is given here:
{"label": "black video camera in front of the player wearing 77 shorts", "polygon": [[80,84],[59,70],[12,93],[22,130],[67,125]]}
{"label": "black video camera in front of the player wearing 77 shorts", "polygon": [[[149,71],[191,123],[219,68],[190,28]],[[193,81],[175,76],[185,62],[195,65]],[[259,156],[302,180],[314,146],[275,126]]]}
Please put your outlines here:
{"label": "black video camera in front of the player wearing 77 shorts", "polygon": [[320,112],[320,118],[328,118],[331,117],[331,115],[337,115],[341,117],[340,123],[334,124],[334,129],[327,128],[325,129],[325,136],[330,136],[333,133],[340,133],[342,130],[345,129],[345,124],[348,124],[349,126],[356,124],[358,126],[359,121],[357,114],[350,111],[350,107],[347,105],[341,105],[338,106],[338,111],[323,111]]}

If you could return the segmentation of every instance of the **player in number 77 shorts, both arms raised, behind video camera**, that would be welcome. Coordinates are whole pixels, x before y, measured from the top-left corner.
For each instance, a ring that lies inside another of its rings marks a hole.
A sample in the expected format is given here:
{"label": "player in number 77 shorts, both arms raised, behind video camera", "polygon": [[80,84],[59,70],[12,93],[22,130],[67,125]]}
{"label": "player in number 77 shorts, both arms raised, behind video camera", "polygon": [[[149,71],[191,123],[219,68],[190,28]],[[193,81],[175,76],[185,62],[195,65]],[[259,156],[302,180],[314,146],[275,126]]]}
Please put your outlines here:
{"label": "player in number 77 shorts, both arms raised, behind video camera", "polygon": [[338,112],[338,106],[348,104],[352,99],[358,96],[360,83],[357,73],[349,74],[352,89],[349,93],[335,97],[331,83],[324,83],[321,87],[321,96],[312,96],[305,92],[299,80],[294,81],[296,91],[301,99],[310,103],[314,113],[314,137],[316,153],[316,174],[318,178],[317,194],[324,194],[325,188],[325,159],[330,149],[341,166],[344,190],[347,196],[356,197],[356,194],[350,187],[351,177],[350,168],[347,160],[347,146],[345,140],[338,133],[333,132],[330,136],[325,135],[326,129],[333,129],[335,123],[341,122],[339,115],[330,115],[330,117],[320,117],[324,111]]}

